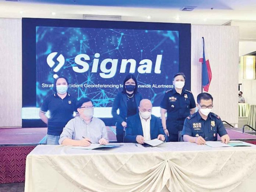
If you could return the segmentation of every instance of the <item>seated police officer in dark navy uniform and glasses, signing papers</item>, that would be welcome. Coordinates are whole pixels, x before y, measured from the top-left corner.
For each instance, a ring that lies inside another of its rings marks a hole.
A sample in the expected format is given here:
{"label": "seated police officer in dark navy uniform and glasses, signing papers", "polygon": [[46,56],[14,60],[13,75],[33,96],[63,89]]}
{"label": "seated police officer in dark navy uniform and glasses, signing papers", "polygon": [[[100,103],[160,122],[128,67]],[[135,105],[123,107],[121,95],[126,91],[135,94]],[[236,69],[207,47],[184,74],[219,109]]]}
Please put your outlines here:
{"label": "seated police officer in dark navy uniform and glasses, signing papers", "polygon": [[184,141],[205,144],[206,141],[217,141],[219,134],[221,141],[227,144],[230,138],[220,117],[210,112],[213,108],[213,97],[209,93],[200,93],[197,103],[198,112],[189,115],[184,122]]}

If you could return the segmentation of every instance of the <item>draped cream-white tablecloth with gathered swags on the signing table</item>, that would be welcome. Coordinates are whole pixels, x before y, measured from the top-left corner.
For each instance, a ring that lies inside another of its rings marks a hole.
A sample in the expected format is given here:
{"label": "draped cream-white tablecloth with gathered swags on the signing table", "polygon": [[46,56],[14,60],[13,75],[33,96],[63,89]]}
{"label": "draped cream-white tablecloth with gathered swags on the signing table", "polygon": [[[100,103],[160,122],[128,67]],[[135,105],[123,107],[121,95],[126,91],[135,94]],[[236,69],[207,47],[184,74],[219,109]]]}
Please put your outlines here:
{"label": "draped cream-white tablecloth with gathered swags on the signing table", "polygon": [[195,143],[107,150],[39,145],[27,156],[25,192],[255,192],[256,147]]}

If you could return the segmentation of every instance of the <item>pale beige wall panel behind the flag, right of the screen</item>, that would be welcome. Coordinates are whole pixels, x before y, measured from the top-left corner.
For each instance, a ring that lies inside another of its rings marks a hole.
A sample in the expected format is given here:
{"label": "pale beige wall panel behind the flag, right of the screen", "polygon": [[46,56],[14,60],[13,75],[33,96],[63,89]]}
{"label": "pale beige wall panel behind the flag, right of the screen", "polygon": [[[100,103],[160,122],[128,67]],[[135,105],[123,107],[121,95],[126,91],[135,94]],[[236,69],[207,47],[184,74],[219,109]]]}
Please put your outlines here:
{"label": "pale beige wall panel behind the flag, right of the screen", "polygon": [[237,26],[192,25],[191,28],[191,90],[201,92],[202,37],[205,38],[212,80],[209,93],[213,96],[213,112],[222,120],[238,123],[238,47]]}

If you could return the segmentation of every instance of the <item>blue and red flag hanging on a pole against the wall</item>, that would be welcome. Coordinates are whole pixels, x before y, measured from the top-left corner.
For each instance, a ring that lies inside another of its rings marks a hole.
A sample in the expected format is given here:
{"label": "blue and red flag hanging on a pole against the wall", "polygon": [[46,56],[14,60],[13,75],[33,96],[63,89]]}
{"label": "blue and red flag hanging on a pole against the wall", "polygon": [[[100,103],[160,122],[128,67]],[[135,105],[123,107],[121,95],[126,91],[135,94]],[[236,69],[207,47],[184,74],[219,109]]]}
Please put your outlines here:
{"label": "blue and red flag hanging on a pole against the wall", "polygon": [[202,37],[202,48],[203,48],[203,52],[201,56],[203,57],[199,59],[199,62],[202,63],[202,84],[203,84],[202,86],[203,86],[203,90],[208,92],[212,76],[211,76],[210,62],[206,55],[205,39],[203,37]]}

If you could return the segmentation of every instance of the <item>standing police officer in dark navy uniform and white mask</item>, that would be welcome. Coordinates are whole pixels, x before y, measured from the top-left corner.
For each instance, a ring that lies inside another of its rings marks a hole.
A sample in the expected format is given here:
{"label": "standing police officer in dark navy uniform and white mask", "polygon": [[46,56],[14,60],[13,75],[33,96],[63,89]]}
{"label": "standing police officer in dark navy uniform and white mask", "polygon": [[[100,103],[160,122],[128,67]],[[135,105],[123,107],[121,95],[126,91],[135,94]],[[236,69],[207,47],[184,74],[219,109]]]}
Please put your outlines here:
{"label": "standing police officer in dark navy uniform and white mask", "polygon": [[174,88],[166,91],[160,104],[161,120],[169,142],[178,141],[178,132],[182,131],[185,118],[195,113],[196,107],[192,92],[183,89],[184,73],[179,72],[174,75],[173,85]]}

